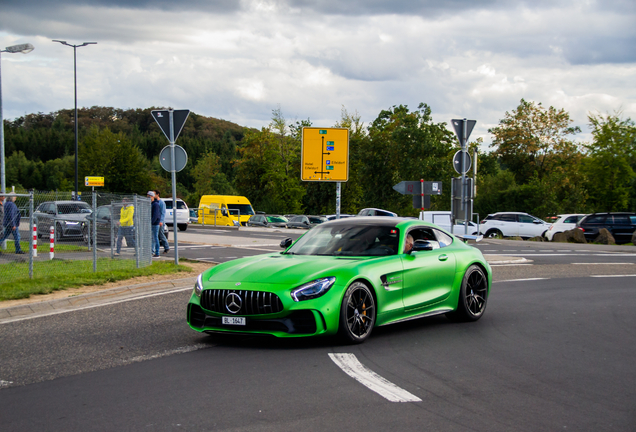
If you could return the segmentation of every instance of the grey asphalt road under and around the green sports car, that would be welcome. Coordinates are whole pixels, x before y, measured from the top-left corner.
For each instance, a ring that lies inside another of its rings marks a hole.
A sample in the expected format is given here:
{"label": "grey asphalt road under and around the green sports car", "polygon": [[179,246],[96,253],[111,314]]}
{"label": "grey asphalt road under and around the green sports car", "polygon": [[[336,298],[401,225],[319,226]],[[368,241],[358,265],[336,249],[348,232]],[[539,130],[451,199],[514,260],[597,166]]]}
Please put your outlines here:
{"label": "grey asphalt road under and around the green sports car", "polygon": [[[2,324],[0,429],[634,430],[636,253],[580,246],[485,241],[528,261],[493,268],[480,321],[410,321],[359,346],[200,335],[189,290]],[[196,252],[222,249],[254,252]],[[371,391],[334,353],[420,401]]]}

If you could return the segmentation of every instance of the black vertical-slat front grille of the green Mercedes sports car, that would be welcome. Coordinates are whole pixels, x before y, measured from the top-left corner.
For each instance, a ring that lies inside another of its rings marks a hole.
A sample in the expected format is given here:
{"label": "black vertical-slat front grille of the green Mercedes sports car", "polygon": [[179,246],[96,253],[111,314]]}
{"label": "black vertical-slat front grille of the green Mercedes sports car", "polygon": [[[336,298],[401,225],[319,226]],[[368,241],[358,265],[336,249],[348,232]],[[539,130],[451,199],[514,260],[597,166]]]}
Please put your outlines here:
{"label": "black vertical-slat front grille of the green Mercedes sports car", "polygon": [[229,294],[236,294],[240,298],[240,309],[235,315],[273,314],[283,310],[283,302],[274,293],[264,291],[239,290],[204,290],[201,293],[201,307],[203,309],[227,314],[226,307]]}

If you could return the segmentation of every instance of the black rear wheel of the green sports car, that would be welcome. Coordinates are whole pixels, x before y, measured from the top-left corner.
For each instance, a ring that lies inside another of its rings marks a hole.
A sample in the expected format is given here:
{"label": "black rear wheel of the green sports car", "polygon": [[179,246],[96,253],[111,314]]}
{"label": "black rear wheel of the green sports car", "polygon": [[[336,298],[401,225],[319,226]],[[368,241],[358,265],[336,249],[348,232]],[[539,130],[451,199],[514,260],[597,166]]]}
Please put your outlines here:
{"label": "black rear wheel of the green sports car", "polygon": [[462,280],[457,300],[457,310],[448,314],[456,321],[477,321],[482,317],[488,303],[488,278],[481,267],[468,267]]}

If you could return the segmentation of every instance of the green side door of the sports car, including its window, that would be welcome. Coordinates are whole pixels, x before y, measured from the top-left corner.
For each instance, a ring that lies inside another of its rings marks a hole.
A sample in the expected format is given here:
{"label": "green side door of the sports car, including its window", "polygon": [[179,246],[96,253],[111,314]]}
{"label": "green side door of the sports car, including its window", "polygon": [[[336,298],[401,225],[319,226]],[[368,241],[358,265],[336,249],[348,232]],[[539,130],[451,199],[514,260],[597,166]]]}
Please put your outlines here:
{"label": "green side door of the sports car, including its window", "polygon": [[430,227],[411,229],[406,233],[414,240],[427,240],[433,250],[403,253],[404,309],[417,309],[444,300],[450,295],[455,279],[455,255],[446,253],[452,238]]}

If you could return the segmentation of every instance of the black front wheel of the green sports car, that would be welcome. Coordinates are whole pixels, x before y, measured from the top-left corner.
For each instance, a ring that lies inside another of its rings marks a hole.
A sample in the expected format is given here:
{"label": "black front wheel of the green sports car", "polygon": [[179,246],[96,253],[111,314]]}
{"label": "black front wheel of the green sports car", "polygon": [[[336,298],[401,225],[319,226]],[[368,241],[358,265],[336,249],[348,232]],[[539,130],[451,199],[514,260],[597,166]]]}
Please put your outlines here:
{"label": "black front wheel of the green sports car", "polygon": [[340,337],[349,344],[364,342],[373,330],[376,313],[375,298],[369,287],[362,282],[352,283],[340,307]]}

